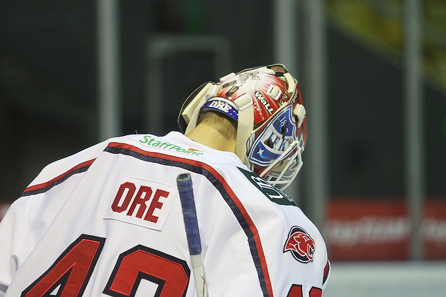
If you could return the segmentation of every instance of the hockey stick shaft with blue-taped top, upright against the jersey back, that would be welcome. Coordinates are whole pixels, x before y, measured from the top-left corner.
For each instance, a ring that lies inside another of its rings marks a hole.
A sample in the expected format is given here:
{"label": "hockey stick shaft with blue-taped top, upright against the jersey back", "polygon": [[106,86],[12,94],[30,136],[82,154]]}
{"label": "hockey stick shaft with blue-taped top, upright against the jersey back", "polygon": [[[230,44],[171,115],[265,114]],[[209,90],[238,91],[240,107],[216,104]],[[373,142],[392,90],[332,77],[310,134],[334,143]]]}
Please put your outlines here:
{"label": "hockey stick shaft with blue-taped top, upright against the jersey back", "polygon": [[179,174],[176,178],[176,184],[183,211],[184,228],[186,230],[197,297],[207,297],[208,290],[201,255],[200,232],[198,229],[197,211],[190,174]]}

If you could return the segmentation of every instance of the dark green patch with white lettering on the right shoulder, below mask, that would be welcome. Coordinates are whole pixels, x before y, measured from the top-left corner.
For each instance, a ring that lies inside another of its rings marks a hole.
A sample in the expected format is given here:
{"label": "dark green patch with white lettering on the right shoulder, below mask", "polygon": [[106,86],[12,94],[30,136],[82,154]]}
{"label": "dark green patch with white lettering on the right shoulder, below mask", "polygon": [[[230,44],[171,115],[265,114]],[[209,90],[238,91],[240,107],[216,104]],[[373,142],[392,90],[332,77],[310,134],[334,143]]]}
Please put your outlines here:
{"label": "dark green patch with white lettering on the right shoulder, below mask", "polygon": [[269,182],[267,182],[254,172],[245,170],[240,167],[237,168],[246,176],[246,178],[251,182],[251,184],[256,186],[256,188],[259,189],[260,192],[262,192],[268,199],[270,199],[274,203],[280,205],[297,206],[297,204],[294,202],[292,198],[290,198],[288,195],[286,195],[278,188],[271,185]]}

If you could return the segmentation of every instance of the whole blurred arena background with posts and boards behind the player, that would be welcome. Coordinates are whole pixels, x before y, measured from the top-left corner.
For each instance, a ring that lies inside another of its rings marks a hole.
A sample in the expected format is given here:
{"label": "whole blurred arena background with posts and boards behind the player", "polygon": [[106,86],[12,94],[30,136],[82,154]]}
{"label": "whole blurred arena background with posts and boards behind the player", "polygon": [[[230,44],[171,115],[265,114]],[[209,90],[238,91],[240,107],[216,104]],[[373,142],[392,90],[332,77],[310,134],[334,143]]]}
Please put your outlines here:
{"label": "whole blurred arena background with posts and boards behind the player", "polygon": [[287,192],[324,233],[324,296],[446,296],[445,20],[444,0],[1,1],[0,219],[48,163],[178,130],[202,83],[281,62],[309,121]]}

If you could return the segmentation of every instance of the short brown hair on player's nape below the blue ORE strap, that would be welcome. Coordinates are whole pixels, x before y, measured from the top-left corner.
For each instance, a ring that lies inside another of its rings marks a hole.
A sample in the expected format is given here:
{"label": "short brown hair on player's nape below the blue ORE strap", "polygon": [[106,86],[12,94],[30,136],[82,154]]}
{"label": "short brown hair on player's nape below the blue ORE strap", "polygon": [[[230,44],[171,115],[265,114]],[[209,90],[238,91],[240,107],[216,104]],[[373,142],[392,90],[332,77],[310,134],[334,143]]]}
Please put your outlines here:
{"label": "short brown hair on player's nape below the blue ORE strap", "polygon": [[202,110],[198,114],[197,125],[200,123],[213,126],[227,139],[235,139],[237,136],[237,121],[222,112]]}

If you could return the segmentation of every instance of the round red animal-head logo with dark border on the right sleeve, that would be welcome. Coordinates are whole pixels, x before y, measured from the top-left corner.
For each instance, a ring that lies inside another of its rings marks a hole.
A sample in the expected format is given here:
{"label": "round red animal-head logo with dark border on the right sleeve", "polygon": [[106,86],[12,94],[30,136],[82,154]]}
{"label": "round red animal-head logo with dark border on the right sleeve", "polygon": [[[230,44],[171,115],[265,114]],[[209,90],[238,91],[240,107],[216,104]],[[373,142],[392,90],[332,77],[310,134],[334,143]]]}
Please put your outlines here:
{"label": "round red animal-head logo with dark border on the right sleeve", "polygon": [[288,250],[296,260],[308,263],[313,261],[315,243],[308,232],[299,226],[293,226],[283,247],[283,252]]}

